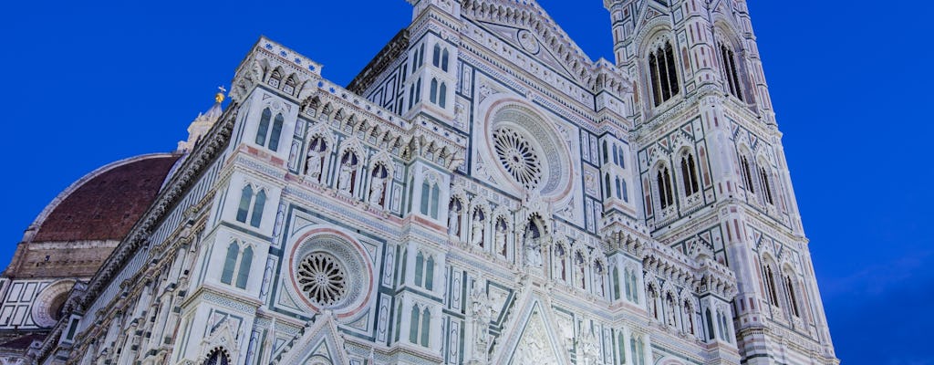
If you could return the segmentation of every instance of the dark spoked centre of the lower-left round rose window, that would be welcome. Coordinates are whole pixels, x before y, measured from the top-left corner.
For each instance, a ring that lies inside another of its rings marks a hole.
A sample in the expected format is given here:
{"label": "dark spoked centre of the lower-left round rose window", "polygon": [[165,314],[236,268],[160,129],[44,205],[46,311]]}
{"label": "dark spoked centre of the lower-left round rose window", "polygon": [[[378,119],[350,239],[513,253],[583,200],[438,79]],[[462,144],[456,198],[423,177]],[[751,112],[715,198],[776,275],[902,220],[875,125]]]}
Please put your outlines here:
{"label": "dark spoked centre of the lower-left round rose window", "polygon": [[332,306],[347,296],[347,273],[333,256],[316,252],[298,264],[298,285],[312,302]]}

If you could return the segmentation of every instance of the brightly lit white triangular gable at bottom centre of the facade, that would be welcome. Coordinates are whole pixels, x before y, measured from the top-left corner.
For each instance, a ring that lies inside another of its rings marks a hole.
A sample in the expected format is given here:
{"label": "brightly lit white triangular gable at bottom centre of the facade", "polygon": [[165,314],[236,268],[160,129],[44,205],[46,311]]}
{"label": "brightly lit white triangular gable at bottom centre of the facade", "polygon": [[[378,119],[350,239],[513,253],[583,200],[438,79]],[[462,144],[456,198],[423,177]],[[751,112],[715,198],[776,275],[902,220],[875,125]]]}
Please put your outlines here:
{"label": "brightly lit white triangular gable at bottom centre of the facade", "polygon": [[571,364],[567,351],[559,341],[559,329],[554,325],[550,310],[538,299],[528,301],[520,323],[509,331],[509,338],[499,350],[499,361],[510,365]]}

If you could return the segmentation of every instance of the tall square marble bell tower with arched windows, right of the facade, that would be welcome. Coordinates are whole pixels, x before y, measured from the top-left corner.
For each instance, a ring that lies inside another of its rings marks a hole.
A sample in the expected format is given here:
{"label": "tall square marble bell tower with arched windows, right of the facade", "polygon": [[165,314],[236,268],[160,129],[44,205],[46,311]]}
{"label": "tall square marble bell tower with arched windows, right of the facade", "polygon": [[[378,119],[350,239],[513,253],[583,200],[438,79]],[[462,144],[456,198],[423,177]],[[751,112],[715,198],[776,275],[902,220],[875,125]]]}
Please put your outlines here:
{"label": "tall square marble bell tower with arched windows, right of the facade", "polygon": [[743,363],[839,363],[745,1],[603,4],[651,235],[734,272]]}

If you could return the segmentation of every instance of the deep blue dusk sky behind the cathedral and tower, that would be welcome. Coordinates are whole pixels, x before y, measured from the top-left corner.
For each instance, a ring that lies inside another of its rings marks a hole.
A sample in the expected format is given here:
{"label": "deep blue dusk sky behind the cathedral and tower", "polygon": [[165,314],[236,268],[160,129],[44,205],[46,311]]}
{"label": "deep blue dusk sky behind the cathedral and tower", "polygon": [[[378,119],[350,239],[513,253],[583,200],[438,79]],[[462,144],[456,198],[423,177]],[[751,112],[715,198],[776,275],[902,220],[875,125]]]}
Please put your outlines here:
{"label": "deep blue dusk sky behind the cathedral and tower", "polygon": [[[0,6],[0,262],[80,176],[174,149],[260,35],[346,85],[411,19],[403,0],[26,3]],[[601,3],[540,1],[591,58],[613,60]],[[934,119],[923,109],[934,5],[749,7],[838,356],[934,364],[923,334],[934,328]]]}

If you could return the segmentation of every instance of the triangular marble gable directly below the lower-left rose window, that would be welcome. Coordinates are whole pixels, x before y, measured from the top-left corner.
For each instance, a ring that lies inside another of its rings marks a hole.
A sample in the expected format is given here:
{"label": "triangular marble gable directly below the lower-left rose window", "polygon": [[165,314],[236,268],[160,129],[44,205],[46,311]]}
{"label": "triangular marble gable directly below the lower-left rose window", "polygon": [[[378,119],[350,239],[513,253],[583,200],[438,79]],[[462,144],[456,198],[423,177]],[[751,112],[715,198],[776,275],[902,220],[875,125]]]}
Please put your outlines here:
{"label": "triangular marble gable directly below the lower-left rose window", "polygon": [[272,363],[304,364],[312,359],[320,359],[333,365],[350,364],[344,351],[344,337],[337,330],[334,317],[328,314],[318,316],[315,323],[304,330],[304,334],[286,346],[285,352],[279,354]]}

